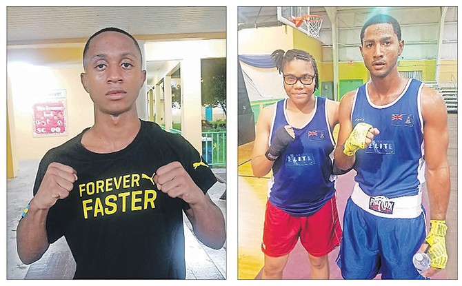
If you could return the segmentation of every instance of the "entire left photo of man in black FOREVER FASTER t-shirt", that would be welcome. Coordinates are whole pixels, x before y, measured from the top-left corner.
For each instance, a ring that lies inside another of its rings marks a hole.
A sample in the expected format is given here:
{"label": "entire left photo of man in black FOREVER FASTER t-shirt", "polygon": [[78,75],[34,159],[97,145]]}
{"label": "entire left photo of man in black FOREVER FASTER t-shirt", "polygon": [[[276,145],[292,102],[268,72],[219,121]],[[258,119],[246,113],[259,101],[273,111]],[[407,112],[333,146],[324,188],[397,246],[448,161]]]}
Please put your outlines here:
{"label": "entire left photo of man in black FOREVER FASTER t-shirt", "polygon": [[226,279],[226,7],[6,19],[6,278]]}

